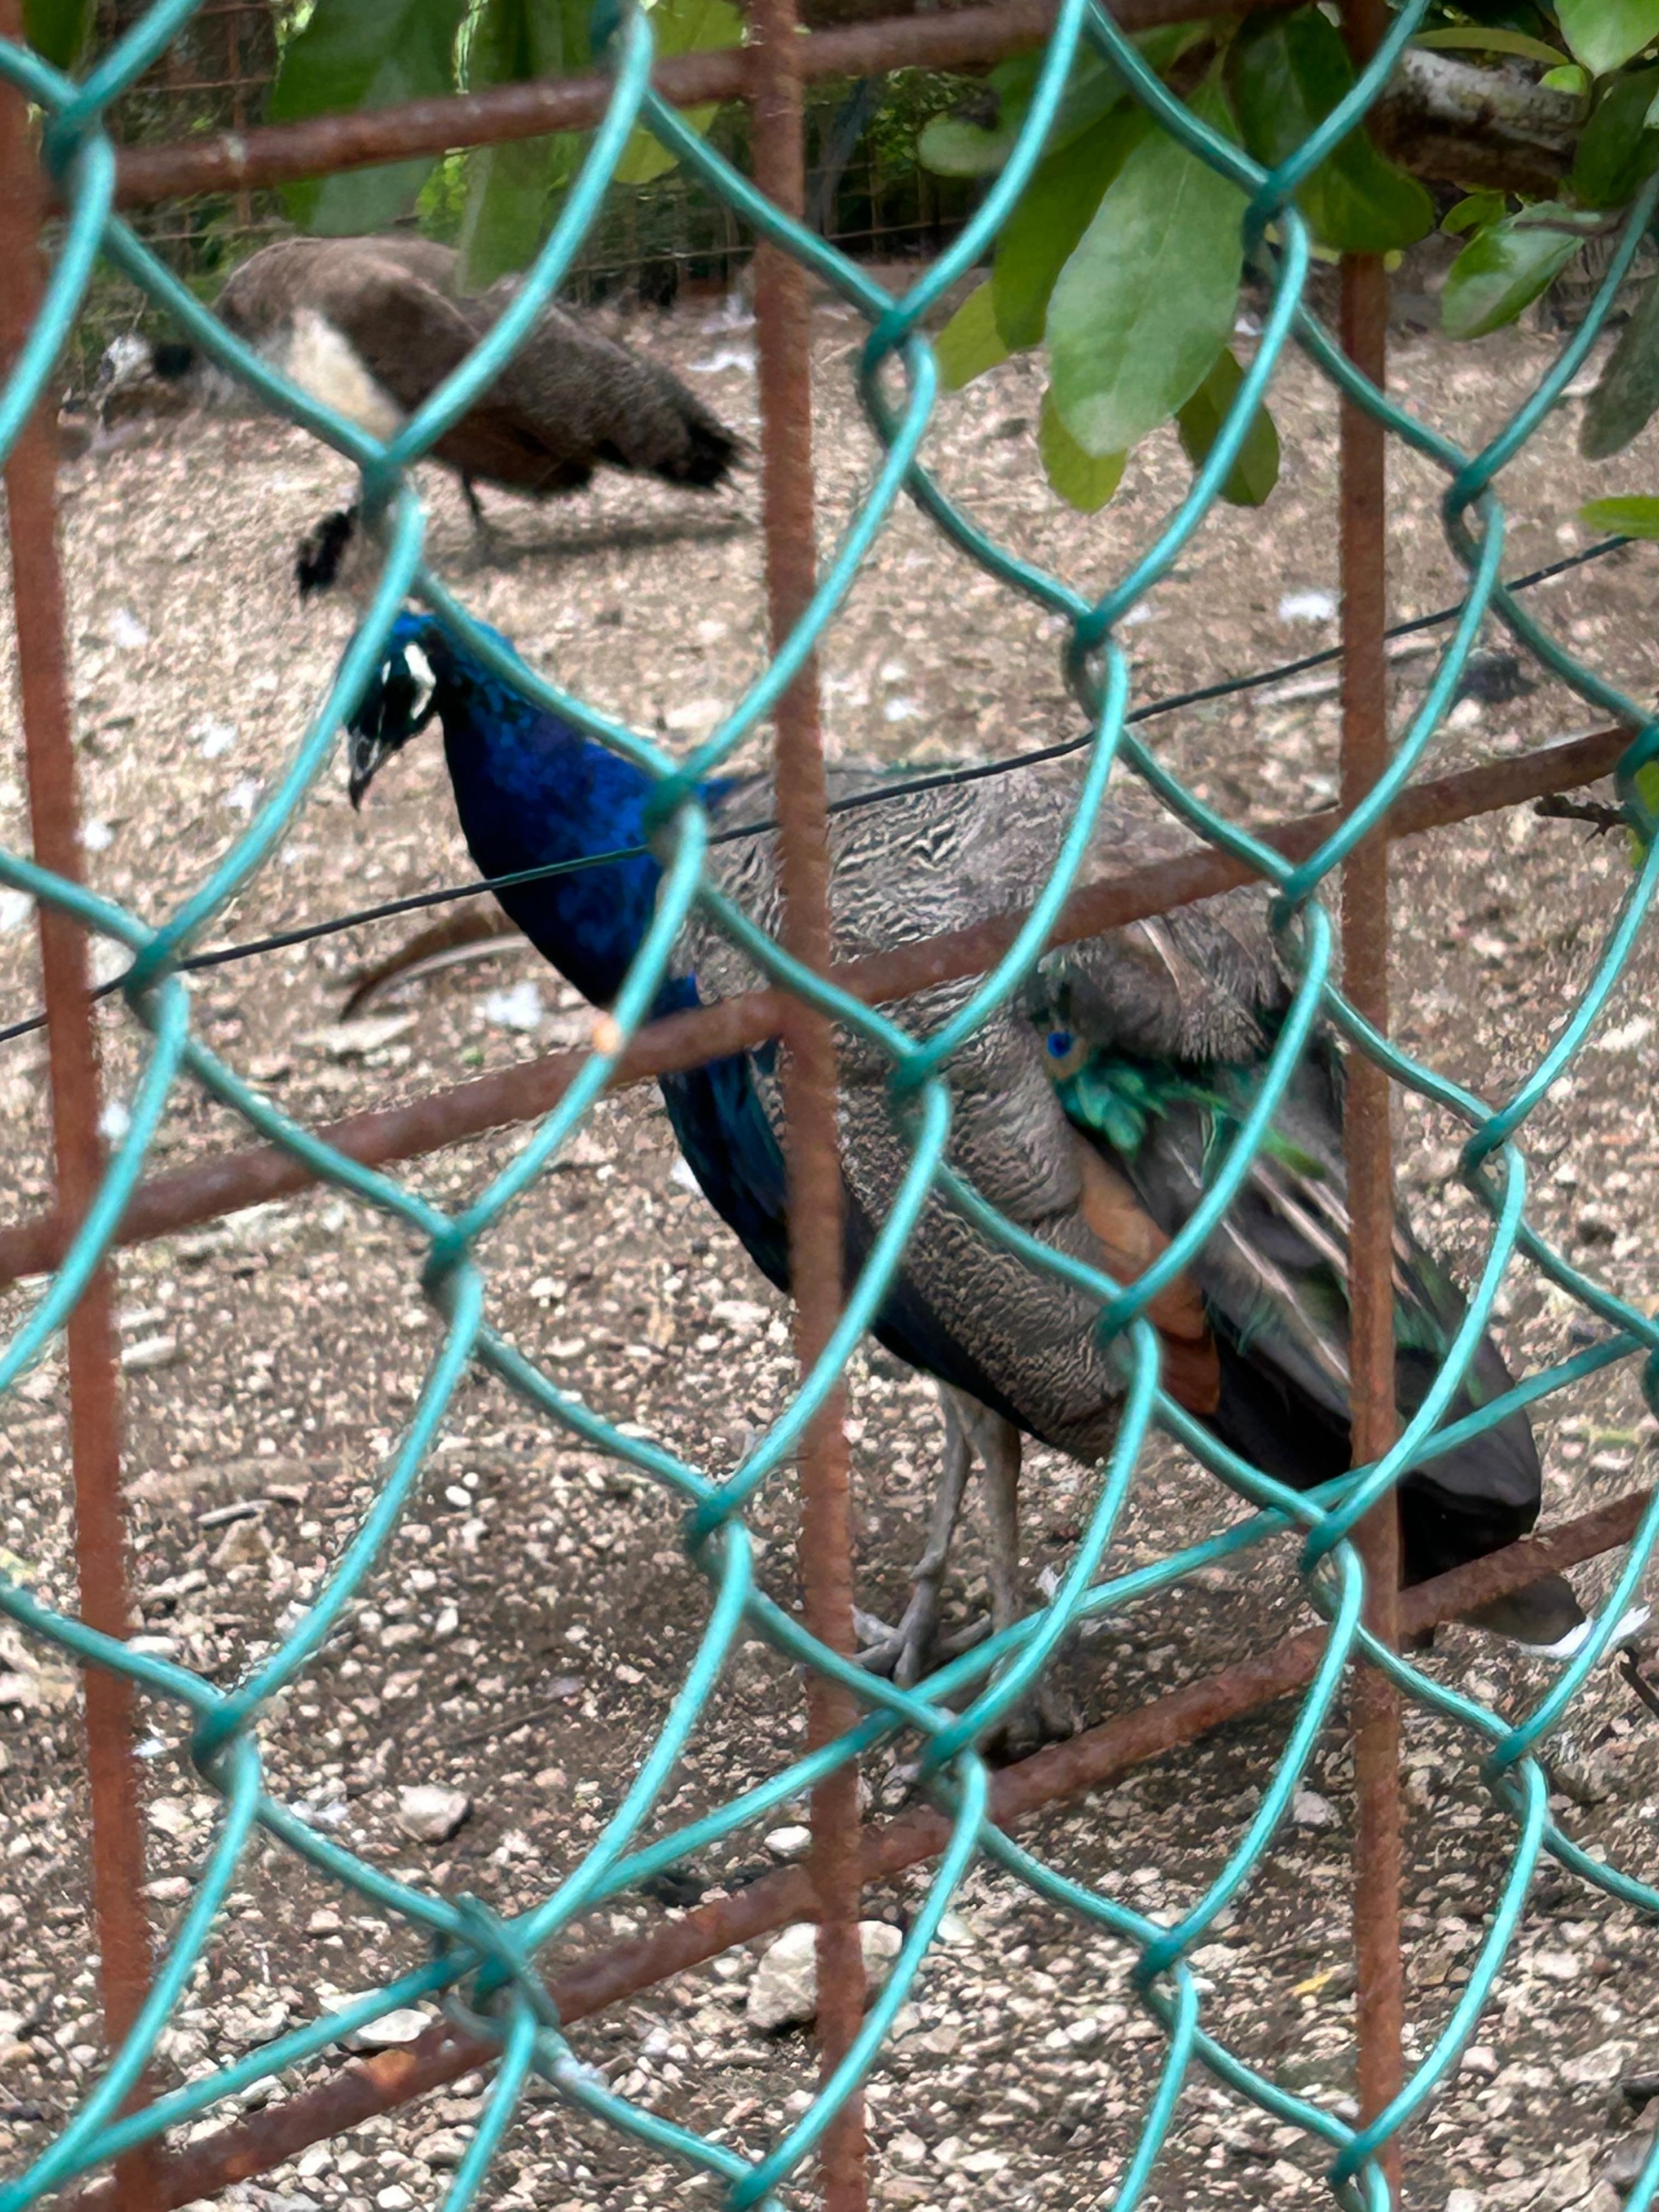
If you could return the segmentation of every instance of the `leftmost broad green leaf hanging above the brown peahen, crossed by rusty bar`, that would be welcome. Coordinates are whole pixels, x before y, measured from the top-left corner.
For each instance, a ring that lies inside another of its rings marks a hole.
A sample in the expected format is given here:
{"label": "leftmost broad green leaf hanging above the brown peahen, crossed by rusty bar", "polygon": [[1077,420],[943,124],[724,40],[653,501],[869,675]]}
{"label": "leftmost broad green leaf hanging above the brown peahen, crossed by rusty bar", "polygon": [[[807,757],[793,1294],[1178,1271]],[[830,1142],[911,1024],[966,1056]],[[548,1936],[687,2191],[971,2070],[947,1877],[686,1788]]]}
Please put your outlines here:
{"label": "leftmost broad green leaf hanging above the brown peahen, crossed by rusty bar", "polygon": [[[316,0],[310,22],[283,49],[270,93],[274,124],[453,91],[456,31],[467,0]],[[330,237],[385,230],[414,201],[431,155],[343,170],[283,186],[301,230]]]}

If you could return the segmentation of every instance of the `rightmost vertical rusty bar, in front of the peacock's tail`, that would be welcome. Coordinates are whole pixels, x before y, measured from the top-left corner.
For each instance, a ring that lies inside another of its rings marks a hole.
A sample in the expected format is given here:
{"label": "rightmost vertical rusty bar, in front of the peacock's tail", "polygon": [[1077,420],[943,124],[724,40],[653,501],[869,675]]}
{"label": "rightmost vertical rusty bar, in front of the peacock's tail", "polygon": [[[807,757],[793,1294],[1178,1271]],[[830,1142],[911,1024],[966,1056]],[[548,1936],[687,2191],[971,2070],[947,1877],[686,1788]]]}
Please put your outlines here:
{"label": "rightmost vertical rusty bar, in front of the peacock's tail", "polygon": [[[1356,62],[1387,27],[1387,0],[1352,0]],[[1387,374],[1389,279],[1383,261],[1343,261],[1343,349],[1371,383]],[[1387,708],[1387,434],[1343,400],[1343,810],[1360,805],[1389,759]],[[1389,843],[1365,838],[1343,869],[1343,982],[1378,1031],[1389,1026]],[[1396,1438],[1394,1396],[1394,1179],[1389,1079],[1358,1053],[1347,1082],[1347,1186],[1352,1219],[1354,1462],[1376,1460]],[[1400,1526],[1385,1500],[1356,1531],[1365,1562],[1367,1626],[1398,1646]],[[1374,1668],[1354,1681],[1354,1958],[1358,1966],[1360,2119],[1400,2088],[1405,1986],[1400,1964],[1400,1699]],[[1385,2172],[1400,2201],[1400,2152]]]}

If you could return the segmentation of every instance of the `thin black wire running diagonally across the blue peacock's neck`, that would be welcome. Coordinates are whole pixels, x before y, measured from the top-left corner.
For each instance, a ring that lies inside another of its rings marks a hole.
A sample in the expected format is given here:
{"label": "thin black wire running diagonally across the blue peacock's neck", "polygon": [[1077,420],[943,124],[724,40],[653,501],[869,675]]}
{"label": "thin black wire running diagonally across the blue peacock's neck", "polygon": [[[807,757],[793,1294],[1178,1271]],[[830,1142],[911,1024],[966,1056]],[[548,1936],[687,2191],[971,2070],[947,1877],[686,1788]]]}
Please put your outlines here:
{"label": "thin black wire running diagonally across the blue peacock's neck", "polygon": [[[1601,538],[1597,544],[1586,546],[1582,553],[1568,553],[1564,560],[1551,562],[1546,568],[1531,568],[1526,575],[1513,577],[1506,591],[1533,591],[1537,584],[1548,584],[1551,577],[1566,575],[1568,568],[1584,568],[1593,560],[1601,560],[1606,553],[1617,553],[1619,546],[1632,544],[1630,538]],[[1462,604],[1442,606],[1433,615],[1413,615],[1409,622],[1396,622],[1385,637],[1411,637],[1418,630],[1436,630],[1447,622],[1455,622],[1462,615]],[[1332,661],[1340,661],[1340,646],[1321,646],[1318,653],[1303,653],[1301,659],[1279,661],[1274,668],[1259,668],[1248,677],[1223,677],[1217,684],[1201,684],[1197,690],[1170,692],[1164,699],[1152,699],[1148,706],[1135,708],[1128,721],[1157,721],[1164,714],[1179,714],[1188,706],[1206,706],[1212,699],[1232,699],[1239,692],[1261,690],[1267,684],[1283,684],[1285,677],[1303,675],[1310,668],[1327,668]],[[1020,768],[1040,768],[1044,761],[1064,761],[1073,752],[1084,752],[1095,743],[1093,730],[1086,737],[1066,737],[1055,745],[1040,745],[1035,752],[1015,752],[1004,761],[975,761],[971,768],[940,768],[931,776],[907,776],[902,783],[878,783],[867,792],[849,792],[845,799],[830,801],[830,814],[852,814],[856,807],[885,805],[891,799],[911,799],[918,792],[938,792],[951,783],[982,783],[987,776],[1009,776]],[[748,836],[765,836],[776,830],[776,821],[757,823],[734,823],[730,830],[717,830],[710,836],[710,845],[734,845]],[[511,876],[478,876],[473,883],[451,883],[438,891],[411,891],[407,898],[389,898],[378,907],[356,907],[352,914],[336,914],[325,922],[305,922],[299,929],[279,929],[268,938],[246,938],[241,945],[221,945],[210,953],[190,953],[179,960],[173,973],[197,973],[201,969],[230,967],[237,960],[257,960],[261,953],[281,953],[294,945],[314,945],[319,938],[334,938],[347,929],[363,929],[367,922],[385,922],[398,914],[420,914],[427,907],[449,907],[458,905],[462,898],[482,898],[484,891],[511,891],[522,883],[549,883],[553,876],[575,876],[591,867],[615,867],[622,860],[648,858],[648,845],[619,845],[615,852],[591,852],[575,860],[549,860],[542,867],[520,867]],[[122,989],[131,969],[102,982],[93,998],[111,998]],[[0,1029],[0,1044],[11,1044],[13,1037],[27,1037],[35,1029],[46,1026],[44,1013],[31,1013],[27,1022],[13,1022],[9,1029]]]}

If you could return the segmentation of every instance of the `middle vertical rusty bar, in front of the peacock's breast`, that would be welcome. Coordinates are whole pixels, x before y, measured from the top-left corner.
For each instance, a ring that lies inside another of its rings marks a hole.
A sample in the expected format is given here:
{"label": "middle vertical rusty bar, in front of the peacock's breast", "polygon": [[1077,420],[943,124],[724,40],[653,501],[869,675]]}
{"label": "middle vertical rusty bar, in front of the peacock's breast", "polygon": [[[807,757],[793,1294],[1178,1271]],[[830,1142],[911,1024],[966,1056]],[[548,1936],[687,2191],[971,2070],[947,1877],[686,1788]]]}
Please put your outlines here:
{"label": "middle vertical rusty bar, in front of the peacock's breast", "polygon": [[[805,122],[794,0],[754,0],[754,177],[801,219]],[[754,257],[754,319],[761,385],[761,498],[772,646],[783,641],[816,571],[812,498],[812,303],[805,270],[761,246]],[[830,814],[812,661],[776,710],[776,812],[783,938],[807,967],[830,969]],[[841,1312],[843,1190],[836,1135],[836,1046],[832,1024],[794,1009],[785,1031],[783,1102],[790,1155],[790,1281],[796,1356],[805,1374]],[[825,1402],[801,1449],[801,1584],[814,1637],[852,1652],[852,1506],[841,1391]],[[856,1721],[847,1690],[807,1686],[807,1739],[823,1743]],[[858,2033],[865,1971],[858,1949],[858,1774],[843,1767],[812,1794],[812,1878],[818,1898],[818,2048],[827,2079]],[[863,2212],[865,2112],[852,2099],[823,2139],[825,2212]]]}

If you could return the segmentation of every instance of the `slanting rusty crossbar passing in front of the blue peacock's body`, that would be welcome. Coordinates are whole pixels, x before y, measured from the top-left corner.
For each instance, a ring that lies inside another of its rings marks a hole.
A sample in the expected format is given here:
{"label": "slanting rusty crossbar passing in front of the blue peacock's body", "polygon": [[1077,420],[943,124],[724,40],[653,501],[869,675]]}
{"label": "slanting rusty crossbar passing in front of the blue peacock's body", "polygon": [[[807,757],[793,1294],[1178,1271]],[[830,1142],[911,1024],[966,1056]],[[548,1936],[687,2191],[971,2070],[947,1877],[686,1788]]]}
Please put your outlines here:
{"label": "slanting rusty crossbar passing in front of the blue peacock's body", "polygon": [[[1442,830],[1495,807],[1597,783],[1610,774],[1628,743],[1630,732],[1626,730],[1597,730],[1590,737],[1540,745],[1535,752],[1482,761],[1478,768],[1460,768],[1449,776],[1416,783],[1396,803],[1389,832],[1391,836],[1418,836],[1425,830]],[[1327,807],[1321,814],[1305,814],[1256,834],[1285,858],[1305,860],[1338,821],[1340,812]],[[1148,914],[1166,914],[1170,907],[1186,907],[1197,898],[1214,898],[1217,891],[1250,883],[1252,874],[1248,863],[1212,849],[1128,869],[1108,883],[1075,891],[1051,933],[1051,942],[1068,945],[1102,929],[1121,929]],[[1022,920],[1022,914],[1004,914],[975,929],[958,929],[949,936],[925,938],[920,945],[902,945],[891,953],[876,953],[869,960],[854,960],[834,969],[834,982],[865,1004],[891,1004],[914,991],[982,973],[1006,951]],[[785,1009],[787,1000],[781,991],[750,991],[719,1006],[650,1022],[624,1055],[613,1088],[765,1044],[779,1033]],[[515,1068],[456,1084],[451,1091],[434,1091],[409,1106],[349,1115],[345,1121],[325,1124],[316,1135],[345,1152],[347,1159],[365,1166],[416,1159],[447,1144],[480,1137],[484,1130],[549,1113],[564,1097],[580,1066],[580,1053],[549,1053],[542,1060],[526,1060]],[[279,1146],[221,1152],[195,1168],[179,1168],[175,1175],[157,1175],[153,1181],[139,1183],[115,1241],[117,1245],[148,1243],[153,1237],[168,1237],[177,1230],[199,1228],[204,1221],[217,1221],[221,1214],[234,1214],[243,1206],[292,1197],[314,1181],[310,1168]],[[46,1274],[66,1250],[69,1234],[55,1212],[35,1214],[31,1221],[0,1230],[0,1287],[24,1274]]]}

